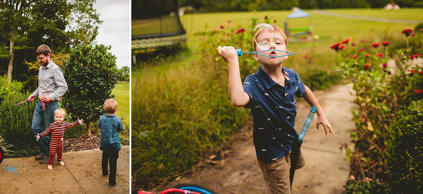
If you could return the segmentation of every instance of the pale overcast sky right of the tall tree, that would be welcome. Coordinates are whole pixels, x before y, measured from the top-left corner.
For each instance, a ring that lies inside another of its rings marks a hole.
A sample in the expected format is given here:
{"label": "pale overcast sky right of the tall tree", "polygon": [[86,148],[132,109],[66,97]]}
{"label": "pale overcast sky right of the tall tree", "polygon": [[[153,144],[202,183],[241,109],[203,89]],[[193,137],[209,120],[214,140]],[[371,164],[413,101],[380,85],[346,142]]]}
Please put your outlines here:
{"label": "pale overcast sky right of the tall tree", "polygon": [[112,45],[118,68],[131,67],[130,7],[129,0],[97,0],[94,8],[100,13],[103,24],[96,37],[97,44]]}

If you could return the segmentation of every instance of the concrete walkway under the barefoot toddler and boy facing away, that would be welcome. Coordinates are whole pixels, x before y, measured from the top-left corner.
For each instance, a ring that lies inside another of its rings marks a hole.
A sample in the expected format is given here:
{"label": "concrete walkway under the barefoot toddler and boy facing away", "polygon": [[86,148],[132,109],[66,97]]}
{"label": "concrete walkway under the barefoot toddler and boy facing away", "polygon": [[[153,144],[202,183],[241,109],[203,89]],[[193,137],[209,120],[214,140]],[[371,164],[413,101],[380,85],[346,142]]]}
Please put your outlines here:
{"label": "concrete walkway under the barefoot toddler and boy facing away", "polygon": [[102,176],[102,151],[99,149],[63,154],[64,166],[55,160],[53,170],[38,164],[35,156],[4,159],[0,164],[0,193],[129,193],[129,145],[119,152],[116,186],[109,186],[108,176]]}

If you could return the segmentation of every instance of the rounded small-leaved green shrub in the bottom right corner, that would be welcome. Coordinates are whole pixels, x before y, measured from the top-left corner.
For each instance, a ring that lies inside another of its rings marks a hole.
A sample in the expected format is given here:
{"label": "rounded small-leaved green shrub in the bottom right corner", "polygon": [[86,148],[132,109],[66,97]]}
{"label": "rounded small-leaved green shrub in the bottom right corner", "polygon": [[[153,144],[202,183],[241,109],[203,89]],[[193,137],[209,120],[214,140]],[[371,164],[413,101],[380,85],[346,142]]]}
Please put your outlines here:
{"label": "rounded small-leaved green shrub in the bottom right corner", "polygon": [[423,193],[423,101],[398,111],[386,135],[390,186],[396,193]]}

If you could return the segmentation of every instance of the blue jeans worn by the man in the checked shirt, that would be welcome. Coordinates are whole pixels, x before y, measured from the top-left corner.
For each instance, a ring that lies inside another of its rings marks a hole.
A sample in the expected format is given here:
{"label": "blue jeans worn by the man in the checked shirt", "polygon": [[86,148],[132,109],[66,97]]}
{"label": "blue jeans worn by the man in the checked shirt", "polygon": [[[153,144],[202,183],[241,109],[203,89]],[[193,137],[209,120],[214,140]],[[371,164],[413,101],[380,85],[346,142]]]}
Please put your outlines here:
{"label": "blue jeans worn by the man in the checked shirt", "polygon": [[[44,103],[46,110],[43,110],[43,105],[38,100],[35,106],[34,115],[32,116],[31,129],[34,135],[44,132],[43,127],[47,129],[52,122],[54,122],[54,111],[59,108],[59,101]],[[49,156],[49,143],[51,134],[41,137],[37,143],[40,146],[41,154]],[[36,137],[34,137],[36,138]]]}

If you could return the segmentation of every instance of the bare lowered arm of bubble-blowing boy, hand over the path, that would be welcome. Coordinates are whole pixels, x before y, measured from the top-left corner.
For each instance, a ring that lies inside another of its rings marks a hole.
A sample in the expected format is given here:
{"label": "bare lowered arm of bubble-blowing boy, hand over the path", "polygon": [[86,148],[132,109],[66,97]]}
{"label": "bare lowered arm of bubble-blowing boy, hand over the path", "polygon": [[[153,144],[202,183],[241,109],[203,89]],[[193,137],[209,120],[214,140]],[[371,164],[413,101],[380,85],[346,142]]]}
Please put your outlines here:
{"label": "bare lowered arm of bubble-blowing boy, hand over the path", "polygon": [[326,118],[326,115],[323,112],[323,108],[321,108],[319,102],[317,102],[316,97],[314,96],[313,92],[311,92],[310,88],[305,86],[305,94],[303,96],[304,100],[310,105],[315,106],[317,108],[317,129],[319,129],[319,125],[322,124],[324,128],[324,133],[327,135],[327,131],[329,129],[329,132],[331,135],[333,135],[332,132],[332,126],[330,125],[329,121]]}

